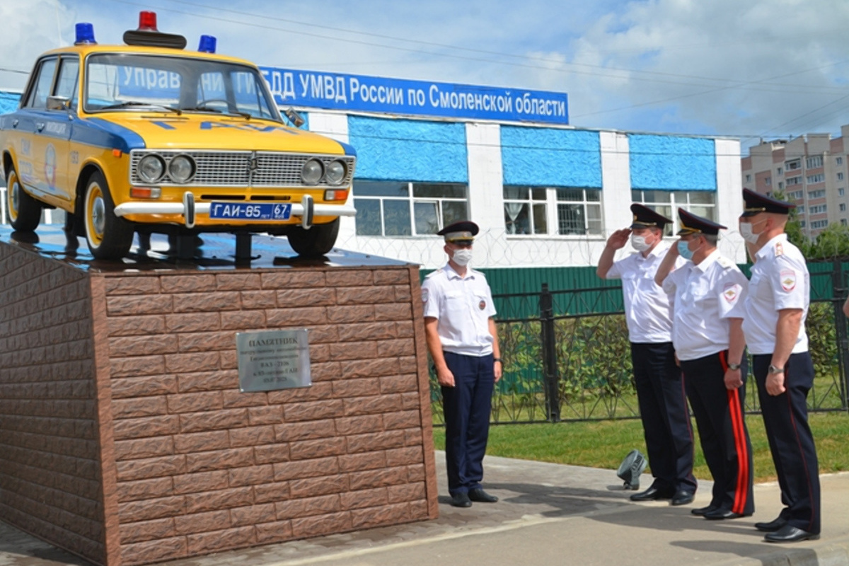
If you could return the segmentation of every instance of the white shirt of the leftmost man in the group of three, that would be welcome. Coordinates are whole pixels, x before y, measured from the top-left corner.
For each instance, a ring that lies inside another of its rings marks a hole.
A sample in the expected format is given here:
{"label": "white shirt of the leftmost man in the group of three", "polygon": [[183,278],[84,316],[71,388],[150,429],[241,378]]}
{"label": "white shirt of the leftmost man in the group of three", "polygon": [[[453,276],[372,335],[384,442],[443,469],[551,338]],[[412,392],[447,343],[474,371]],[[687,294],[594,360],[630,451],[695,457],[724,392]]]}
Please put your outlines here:
{"label": "white shirt of the leftmost man in the group of three", "polygon": [[[672,304],[669,296],[655,284],[655,273],[661,266],[669,244],[661,241],[647,257],[636,253],[616,261],[607,279],[622,280],[625,298],[625,320],[628,339],[637,344],[672,342]],[[684,260],[678,258],[676,267]]]}

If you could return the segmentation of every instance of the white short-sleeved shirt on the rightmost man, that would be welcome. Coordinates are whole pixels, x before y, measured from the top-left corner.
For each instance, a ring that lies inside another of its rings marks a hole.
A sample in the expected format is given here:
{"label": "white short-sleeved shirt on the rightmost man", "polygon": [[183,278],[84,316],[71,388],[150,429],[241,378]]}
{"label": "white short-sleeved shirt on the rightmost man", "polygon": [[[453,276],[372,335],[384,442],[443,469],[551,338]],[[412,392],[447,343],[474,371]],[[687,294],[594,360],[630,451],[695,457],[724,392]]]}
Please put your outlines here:
{"label": "white short-sleeved shirt on the rightmost man", "polygon": [[811,295],[811,278],[805,257],[787,241],[787,234],[769,240],[755,254],[749,296],[745,300],[743,333],[752,354],[775,351],[775,329],[781,309],[801,309],[799,336],[793,353],[807,351],[805,319]]}

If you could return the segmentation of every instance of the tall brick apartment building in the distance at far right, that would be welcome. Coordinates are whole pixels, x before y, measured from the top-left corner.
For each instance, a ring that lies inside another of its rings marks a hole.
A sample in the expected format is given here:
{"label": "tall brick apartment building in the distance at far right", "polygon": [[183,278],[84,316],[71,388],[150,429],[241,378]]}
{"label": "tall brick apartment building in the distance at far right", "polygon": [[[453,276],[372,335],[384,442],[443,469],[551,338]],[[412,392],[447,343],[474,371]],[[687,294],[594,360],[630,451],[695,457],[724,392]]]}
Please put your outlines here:
{"label": "tall brick apartment building in the distance at far right", "polygon": [[743,187],[784,193],[797,205],[801,227],[816,238],[829,224],[849,224],[849,125],[841,137],[809,133],[762,142],[741,160]]}

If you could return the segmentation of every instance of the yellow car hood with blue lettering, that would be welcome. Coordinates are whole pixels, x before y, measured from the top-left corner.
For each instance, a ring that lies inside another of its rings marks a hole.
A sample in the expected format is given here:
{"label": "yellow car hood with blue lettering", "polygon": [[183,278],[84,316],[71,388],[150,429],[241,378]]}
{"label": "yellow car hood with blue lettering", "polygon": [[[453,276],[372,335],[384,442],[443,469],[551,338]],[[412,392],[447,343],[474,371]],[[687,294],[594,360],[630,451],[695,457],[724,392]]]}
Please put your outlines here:
{"label": "yellow car hood with blue lettering", "polygon": [[286,151],[306,154],[345,154],[345,147],[329,137],[295,130],[269,120],[183,114],[96,115],[137,134],[149,149],[214,149],[234,151]]}

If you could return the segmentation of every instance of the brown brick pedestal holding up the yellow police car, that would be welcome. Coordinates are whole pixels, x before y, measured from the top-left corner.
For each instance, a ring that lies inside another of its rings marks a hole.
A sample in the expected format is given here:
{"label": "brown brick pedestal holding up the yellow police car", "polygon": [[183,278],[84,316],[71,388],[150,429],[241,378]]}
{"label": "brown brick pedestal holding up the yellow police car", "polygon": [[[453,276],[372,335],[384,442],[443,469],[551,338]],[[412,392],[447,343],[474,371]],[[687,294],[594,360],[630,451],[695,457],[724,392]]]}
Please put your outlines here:
{"label": "brown brick pedestal holding up the yellow police car", "polygon": [[[0,518],[107,566],[436,518],[417,266],[40,238],[0,230]],[[235,333],[286,328],[312,387],[240,393]]]}

